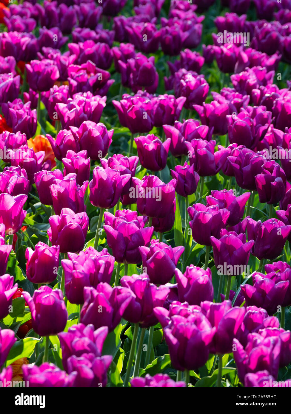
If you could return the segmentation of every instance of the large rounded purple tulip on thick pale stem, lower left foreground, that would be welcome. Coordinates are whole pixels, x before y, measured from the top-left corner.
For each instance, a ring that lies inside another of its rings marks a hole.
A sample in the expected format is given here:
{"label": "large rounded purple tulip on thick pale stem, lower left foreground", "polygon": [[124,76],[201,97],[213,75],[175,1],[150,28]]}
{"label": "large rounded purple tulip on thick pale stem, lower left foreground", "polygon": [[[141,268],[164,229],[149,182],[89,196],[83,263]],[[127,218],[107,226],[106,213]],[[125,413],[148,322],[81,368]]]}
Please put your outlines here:
{"label": "large rounded purple tulip on thick pale stem, lower left foreground", "polygon": [[32,328],[40,336],[56,335],[62,332],[67,323],[68,312],[60,289],[41,286],[31,297],[23,292],[32,316]]}

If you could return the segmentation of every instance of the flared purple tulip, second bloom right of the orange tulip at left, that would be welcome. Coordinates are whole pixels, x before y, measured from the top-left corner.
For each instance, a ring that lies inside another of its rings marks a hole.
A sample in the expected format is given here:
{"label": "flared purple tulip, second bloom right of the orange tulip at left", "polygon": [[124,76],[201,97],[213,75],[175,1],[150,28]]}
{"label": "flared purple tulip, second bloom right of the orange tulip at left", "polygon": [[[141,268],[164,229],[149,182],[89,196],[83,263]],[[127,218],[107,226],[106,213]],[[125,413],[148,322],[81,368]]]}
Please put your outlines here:
{"label": "flared purple tulip, second bloom right of the orange tulip at left", "polygon": [[92,121],[84,121],[79,129],[76,127],[70,129],[81,151],[86,150],[90,159],[106,156],[112,142],[113,129],[108,131],[103,123],[96,124]]}

